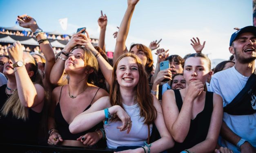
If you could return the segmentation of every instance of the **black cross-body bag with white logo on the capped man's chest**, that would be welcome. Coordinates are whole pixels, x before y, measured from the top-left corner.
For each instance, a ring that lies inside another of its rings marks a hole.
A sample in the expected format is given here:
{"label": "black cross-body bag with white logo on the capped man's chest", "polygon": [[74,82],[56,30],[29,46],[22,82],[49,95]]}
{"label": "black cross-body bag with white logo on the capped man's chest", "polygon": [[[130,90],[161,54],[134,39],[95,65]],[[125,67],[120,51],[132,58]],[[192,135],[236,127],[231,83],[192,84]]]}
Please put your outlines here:
{"label": "black cross-body bag with white logo on the capped man's chest", "polygon": [[224,107],[230,115],[250,115],[256,113],[256,72],[247,80],[245,87],[236,95],[231,103]]}

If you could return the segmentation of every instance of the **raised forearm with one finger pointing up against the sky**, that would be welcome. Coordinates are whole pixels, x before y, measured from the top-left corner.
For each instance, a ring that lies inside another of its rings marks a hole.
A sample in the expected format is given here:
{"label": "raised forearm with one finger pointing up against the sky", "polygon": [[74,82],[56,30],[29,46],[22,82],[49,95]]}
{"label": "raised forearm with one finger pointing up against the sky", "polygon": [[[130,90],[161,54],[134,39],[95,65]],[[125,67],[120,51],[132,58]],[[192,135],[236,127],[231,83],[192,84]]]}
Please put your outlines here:
{"label": "raised forearm with one finger pointing up against the sky", "polygon": [[106,34],[106,28],[107,28],[107,15],[102,13],[102,11],[100,11],[101,16],[98,19],[98,25],[100,26],[100,37],[99,37],[99,42],[98,42],[98,46],[104,50],[104,52],[106,52],[105,50],[105,34]]}

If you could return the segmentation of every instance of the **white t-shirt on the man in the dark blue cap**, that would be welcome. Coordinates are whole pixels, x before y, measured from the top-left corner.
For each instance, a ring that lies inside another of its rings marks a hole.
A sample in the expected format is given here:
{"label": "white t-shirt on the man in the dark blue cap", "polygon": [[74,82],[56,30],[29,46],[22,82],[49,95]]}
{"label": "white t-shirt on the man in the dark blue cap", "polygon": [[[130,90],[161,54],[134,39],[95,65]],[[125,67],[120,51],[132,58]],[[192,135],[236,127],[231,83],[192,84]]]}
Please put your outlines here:
{"label": "white t-shirt on the man in the dark blue cap", "polygon": [[[240,74],[233,66],[212,76],[209,91],[219,94],[223,98],[223,107],[225,107],[245,87],[248,79],[249,77]],[[223,121],[234,133],[256,148],[256,113],[251,115],[229,115],[224,112]],[[234,153],[240,153],[235,145],[224,139],[220,138],[219,144],[232,149]]]}

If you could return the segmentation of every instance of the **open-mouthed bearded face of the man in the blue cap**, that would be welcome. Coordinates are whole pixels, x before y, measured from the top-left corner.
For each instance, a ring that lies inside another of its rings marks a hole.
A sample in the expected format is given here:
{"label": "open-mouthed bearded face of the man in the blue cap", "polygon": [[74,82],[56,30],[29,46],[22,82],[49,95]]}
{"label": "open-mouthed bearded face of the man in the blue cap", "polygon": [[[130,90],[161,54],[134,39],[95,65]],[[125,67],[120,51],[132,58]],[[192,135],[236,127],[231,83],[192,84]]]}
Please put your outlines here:
{"label": "open-mouthed bearded face of the man in the blue cap", "polygon": [[252,33],[242,33],[233,42],[236,62],[250,63],[256,59],[256,36]]}

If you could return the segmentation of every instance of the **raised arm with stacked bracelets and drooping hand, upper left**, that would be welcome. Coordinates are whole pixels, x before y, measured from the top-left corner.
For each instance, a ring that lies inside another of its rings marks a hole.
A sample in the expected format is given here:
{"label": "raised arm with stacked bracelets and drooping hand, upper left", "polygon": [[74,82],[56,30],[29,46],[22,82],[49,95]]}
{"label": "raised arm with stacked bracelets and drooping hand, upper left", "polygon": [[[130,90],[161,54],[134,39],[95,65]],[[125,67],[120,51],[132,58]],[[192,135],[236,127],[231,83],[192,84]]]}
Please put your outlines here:
{"label": "raised arm with stacked bracelets and drooping hand, upper left", "polygon": [[[25,16],[25,15],[21,15],[18,16],[19,18],[18,23],[20,26],[22,26],[23,28],[30,28],[31,31],[33,33],[41,30],[36,22],[35,19],[33,19],[33,17],[30,16]],[[38,32],[36,33],[36,39],[38,41],[43,40],[43,39],[47,39],[44,35],[43,32]],[[50,73],[51,73],[51,68],[53,67],[54,63],[55,63],[55,55],[53,52],[53,49],[51,47],[51,44],[49,41],[45,41],[39,44],[42,52],[44,53],[45,59],[46,59],[46,63],[45,63],[45,76],[44,76],[44,85],[45,85],[45,89],[48,90],[49,92],[51,92],[52,90],[52,85],[50,83]]]}

